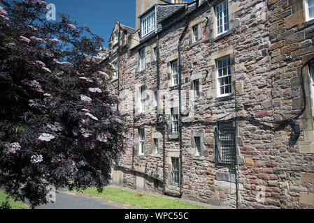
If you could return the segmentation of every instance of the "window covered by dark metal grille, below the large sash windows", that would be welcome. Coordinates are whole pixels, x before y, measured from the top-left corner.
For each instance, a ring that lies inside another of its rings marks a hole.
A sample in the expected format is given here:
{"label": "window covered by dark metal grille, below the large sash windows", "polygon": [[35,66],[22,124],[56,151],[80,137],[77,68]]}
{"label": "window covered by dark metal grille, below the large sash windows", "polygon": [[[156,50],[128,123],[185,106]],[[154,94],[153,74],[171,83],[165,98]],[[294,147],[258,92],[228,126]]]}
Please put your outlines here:
{"label": "window covered by dark metal grille, below the large sash windows", "polygon": [[221,164],[236,164],[236,144],[233,123],[219,123],[215,130],[215,157]]}

